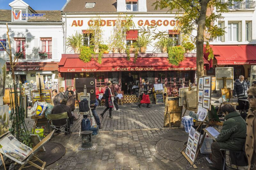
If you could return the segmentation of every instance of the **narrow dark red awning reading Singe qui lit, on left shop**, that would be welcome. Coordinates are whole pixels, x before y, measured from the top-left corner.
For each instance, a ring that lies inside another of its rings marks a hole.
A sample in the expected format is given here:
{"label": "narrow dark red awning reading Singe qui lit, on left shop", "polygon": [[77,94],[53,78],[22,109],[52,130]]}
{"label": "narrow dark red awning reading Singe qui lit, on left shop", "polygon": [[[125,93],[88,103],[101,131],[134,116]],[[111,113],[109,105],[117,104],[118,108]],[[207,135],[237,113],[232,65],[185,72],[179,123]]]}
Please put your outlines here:
{"label": "narrow dark red awning reading Singe qui lit, on left shop", "polygon": [[[20,62],[14,67],[14,71],[57,71],[58,70],[58,62]],[[6,64],[6,71],[11,71],[11,66],[9,63]]]}

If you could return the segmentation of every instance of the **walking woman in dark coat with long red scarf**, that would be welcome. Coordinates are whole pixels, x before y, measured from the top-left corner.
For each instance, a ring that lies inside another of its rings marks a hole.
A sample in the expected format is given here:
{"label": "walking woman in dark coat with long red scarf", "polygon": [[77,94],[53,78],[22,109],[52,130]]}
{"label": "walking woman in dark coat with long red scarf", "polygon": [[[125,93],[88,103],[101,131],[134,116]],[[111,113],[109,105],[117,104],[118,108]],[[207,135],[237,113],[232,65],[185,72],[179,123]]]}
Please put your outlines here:
{"label": "walking woman in dark coat with long red scarf", "polygon": [[111,87],[111,83],[107,83],[107,88],[105,90],[105,106],[106,109],[103,110],[103,112],[100,114],[101,117],[104,116],[105,112],[109,109],[109,118],[113,119],[112,117],[112,108],[114,108],[114,110],[116,110],[114,103],[114,94],[111,93],[110,87]]}

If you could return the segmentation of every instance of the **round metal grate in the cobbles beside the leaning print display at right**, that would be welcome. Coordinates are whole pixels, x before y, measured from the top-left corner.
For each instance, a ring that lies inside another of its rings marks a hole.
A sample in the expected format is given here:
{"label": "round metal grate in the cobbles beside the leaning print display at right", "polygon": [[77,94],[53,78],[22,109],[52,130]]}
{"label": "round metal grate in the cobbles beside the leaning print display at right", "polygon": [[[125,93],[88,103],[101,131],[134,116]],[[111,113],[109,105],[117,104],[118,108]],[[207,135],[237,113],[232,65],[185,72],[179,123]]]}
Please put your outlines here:
{"label": "round metal grate in the cobbles beside the leaning print display at right", "polygon": [[164,138],[156,143],[156,152],[166,159],[175,161],[182,156],[180,151],[184,148],[183,143]]}

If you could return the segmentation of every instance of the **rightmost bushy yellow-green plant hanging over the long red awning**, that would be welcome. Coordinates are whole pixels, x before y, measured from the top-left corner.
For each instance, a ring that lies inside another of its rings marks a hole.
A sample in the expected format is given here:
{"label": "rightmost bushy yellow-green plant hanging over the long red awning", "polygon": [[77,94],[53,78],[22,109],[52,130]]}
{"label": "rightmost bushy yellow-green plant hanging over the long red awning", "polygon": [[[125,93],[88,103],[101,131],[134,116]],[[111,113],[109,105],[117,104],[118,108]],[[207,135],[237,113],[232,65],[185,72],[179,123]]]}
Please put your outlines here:
{"label": "rightmost bushy yellow-green plant hanging over the long red awning", "polygon": [[169,63],[179,65],[184,60],[185,48],[183,46],[170,46],[167,51]]}

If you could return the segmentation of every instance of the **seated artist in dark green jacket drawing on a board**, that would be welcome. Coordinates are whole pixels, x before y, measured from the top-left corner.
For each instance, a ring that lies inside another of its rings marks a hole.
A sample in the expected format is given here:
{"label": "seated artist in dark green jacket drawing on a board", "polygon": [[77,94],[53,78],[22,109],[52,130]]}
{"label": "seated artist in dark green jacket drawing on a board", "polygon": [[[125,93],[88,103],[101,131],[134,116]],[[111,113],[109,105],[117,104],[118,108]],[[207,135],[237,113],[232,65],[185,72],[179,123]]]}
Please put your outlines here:
{"label": "seated artist in dark green jacket drawing on a board", "polygon": [[226,120],[216,142],[212,143],[212,162],[211,169],[223,169],[223,160],[220,149],[232,151],[243,151],[246,138],[246,123],[241,115],[231,104],[225,104],[220,108],[221,113]]}

